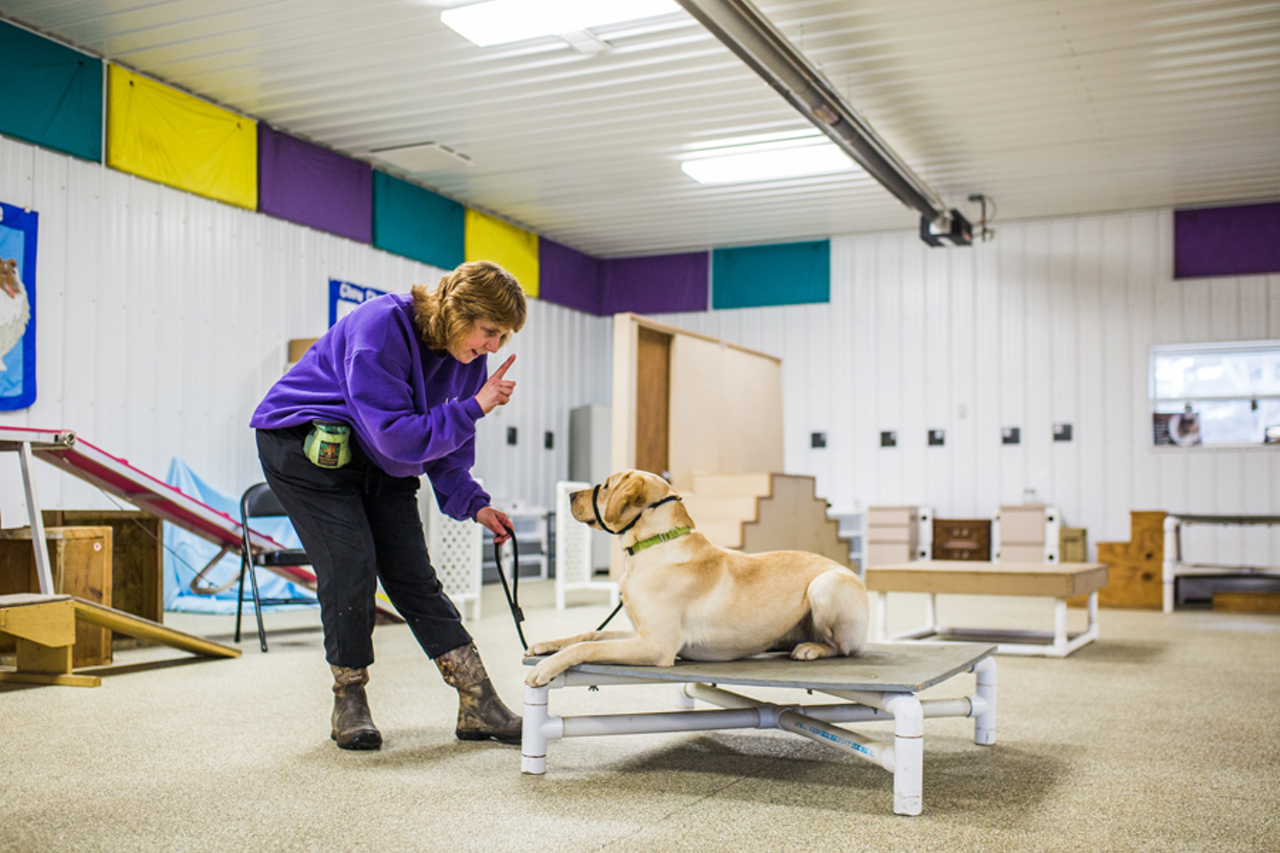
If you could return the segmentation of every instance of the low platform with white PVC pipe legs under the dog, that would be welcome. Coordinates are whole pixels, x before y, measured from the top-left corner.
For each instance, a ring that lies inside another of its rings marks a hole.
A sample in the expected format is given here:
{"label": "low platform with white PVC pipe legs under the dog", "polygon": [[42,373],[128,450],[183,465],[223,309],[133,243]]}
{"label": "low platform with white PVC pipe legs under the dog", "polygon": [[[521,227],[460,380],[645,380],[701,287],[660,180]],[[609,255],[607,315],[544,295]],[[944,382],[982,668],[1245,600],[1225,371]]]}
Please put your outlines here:
{"label": "low platform with white PVC pipe legs under the dog", "polygon": [[[769,654],[675,666],[581,663],[545,686],[525,686],[521,771],[547,772],[552,740],[594,735],[782,729],[893,774],[893,812],[919,815],[924,767],[925,717],[973,717],[975,744],[996,742],[995,646],[870,644],[859,657],[792,661]],[[530,665],[541,658],[529,658]],[[920,699],[916,694],[963,672],[974,672],[974,693],[959,699]],[[678,684],[680,711],[558,716],[550,713],[550,690],[567,686]],[[783,688],[824,693],[827,704],[778,704],[726,690],[723,685]],[[695,699],[719,706],[695,710]],[[892,740],[850,731],[840,722],[892,721]]]}

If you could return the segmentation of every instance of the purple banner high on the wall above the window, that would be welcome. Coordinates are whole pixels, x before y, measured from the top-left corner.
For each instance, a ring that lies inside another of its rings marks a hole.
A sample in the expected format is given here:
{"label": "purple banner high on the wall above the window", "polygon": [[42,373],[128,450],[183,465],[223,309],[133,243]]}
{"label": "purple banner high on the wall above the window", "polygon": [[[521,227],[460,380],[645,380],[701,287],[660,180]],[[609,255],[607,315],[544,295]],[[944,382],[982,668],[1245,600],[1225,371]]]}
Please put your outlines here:
{"label": "purple banner high on the wall above the window", "polygon": [[1280,273],[1280,202],[1174,211],[1174,278]]}

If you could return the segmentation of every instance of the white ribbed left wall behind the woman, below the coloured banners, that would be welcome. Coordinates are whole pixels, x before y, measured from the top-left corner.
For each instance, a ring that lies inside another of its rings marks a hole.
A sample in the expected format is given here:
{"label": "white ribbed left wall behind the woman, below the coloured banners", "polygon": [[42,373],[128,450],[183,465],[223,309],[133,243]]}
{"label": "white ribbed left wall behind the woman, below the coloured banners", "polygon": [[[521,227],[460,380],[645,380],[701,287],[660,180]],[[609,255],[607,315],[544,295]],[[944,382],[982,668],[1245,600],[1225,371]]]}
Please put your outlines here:
{"label": "white ribbed left wall behind the woman, below the coloured banners", "polygon": [[[160,479],[180,457],[230,493],[261,479],[250,414],[287,342],[326,328],[329,279],[403,292],[442,274],[6,138],[0,200],[40,213],[38,396],[0,425],[72,429]],[[511,345],[516,397],[480,421],[476,474],[495,497],[550,505],[568,476],[570,410],[609,402],[612,327],[531,300],[525,329]],[[52,466],[37,471],[46,508],[111,506]],[[0,524],[26,516],[17,456],[0,455]]]}

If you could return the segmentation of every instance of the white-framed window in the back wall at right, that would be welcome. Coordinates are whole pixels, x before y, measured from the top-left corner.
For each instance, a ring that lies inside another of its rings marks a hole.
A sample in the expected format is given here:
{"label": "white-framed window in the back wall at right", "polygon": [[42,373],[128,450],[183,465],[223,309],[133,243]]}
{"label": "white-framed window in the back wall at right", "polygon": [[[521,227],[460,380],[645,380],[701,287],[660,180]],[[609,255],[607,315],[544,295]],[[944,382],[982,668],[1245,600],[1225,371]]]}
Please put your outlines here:
{"label": "white-framed window in the back wall at right", "polygon": [[1156,444],[1280,446],[1280,341],[1151,348]]}

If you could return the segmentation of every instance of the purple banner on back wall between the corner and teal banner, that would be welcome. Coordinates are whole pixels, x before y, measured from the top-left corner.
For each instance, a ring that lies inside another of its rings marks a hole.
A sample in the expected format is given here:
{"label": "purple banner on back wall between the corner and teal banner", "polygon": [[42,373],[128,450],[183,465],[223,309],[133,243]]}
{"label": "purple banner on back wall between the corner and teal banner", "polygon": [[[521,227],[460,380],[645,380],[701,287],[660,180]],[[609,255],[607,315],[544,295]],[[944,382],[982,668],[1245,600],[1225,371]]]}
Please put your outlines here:
{"label": "purple banner on back wall between the corner and teal banner", "polygon": [[603,313],[705,311],[709,252],[602,261]]}

